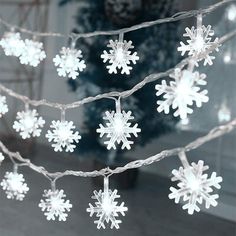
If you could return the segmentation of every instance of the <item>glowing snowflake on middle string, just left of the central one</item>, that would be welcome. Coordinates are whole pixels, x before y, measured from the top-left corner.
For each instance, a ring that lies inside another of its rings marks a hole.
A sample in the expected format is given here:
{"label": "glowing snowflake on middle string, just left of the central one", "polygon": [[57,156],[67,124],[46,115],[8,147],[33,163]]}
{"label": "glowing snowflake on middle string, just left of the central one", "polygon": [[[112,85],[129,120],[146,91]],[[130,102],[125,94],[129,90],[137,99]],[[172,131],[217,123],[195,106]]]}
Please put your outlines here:
{"label": "glowing snowflake on middle string, just left of the central one", "polygon": [[53,120],[50,127],[54,130],[48,130],[46,138],[48,138],[49,142],[55,142],[52,144],[54,151],[62,152],[63,148],[65,148],[66,152],[73,152],[76,147],[76,145],[73,143],[78,143],[81,139],[78,131],[73,132],[73,129],[75,128],[73,122]]}

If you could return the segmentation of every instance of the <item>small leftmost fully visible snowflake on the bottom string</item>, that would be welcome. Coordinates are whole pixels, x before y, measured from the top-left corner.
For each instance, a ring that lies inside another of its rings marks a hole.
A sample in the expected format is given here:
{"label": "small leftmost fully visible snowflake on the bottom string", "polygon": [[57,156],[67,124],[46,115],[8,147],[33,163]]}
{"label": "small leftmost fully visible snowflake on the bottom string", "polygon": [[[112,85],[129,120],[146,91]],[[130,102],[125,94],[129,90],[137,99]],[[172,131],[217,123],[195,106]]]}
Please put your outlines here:
{"label": "small leftmost fully visible snowflake on the bottom string", "polygon": [[5,190],[8,199],[22,201],[29,191],[22,174],[6,172],[1,182],[2,189]]}

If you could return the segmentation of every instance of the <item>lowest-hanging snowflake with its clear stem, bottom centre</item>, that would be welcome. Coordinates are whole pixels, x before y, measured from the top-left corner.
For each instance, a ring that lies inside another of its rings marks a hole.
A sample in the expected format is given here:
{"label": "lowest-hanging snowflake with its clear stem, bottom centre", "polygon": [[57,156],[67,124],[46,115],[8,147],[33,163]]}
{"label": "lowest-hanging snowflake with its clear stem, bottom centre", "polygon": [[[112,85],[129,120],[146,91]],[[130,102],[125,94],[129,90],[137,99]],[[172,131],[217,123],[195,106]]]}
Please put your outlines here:
{"label": "lowest-hanging snowflake with its clear stem, bottom centre", "polygon": [[119,224],[122,223],[121,220],[118,220],[117,217],[119,213],[122,216],[125,216],[125,211],[128,211],[128,208],[124,206],[124,202],[118,205],[116,198],[120,198],[118,195],[118,191],[115,189],[114,191],[109,189],[108,178],[104,178],[104,190],[99,190],[98,192],[94,191],[94,196],[92,199],[96,200],[95,206],[89,203],[89,208],[87,208],[87,212],[90,213],[90,217],[95,215],[98,219],[94,221],[97,224],[97,228],[105,229],[105,223],[109,224],[113,229],[119,229]]}

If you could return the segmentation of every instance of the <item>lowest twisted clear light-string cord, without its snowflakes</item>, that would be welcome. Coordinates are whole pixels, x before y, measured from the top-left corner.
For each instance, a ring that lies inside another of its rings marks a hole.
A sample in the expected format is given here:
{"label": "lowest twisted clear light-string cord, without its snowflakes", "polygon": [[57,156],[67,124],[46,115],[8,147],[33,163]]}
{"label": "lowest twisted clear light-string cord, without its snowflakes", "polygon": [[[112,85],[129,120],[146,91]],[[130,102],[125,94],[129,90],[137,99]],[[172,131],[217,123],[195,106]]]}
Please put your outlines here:
{"label": "lowest twisted clear light-string cord, without its snowflakes", "polygon": [[179,156],[181,153],[185,153],[185,152],[189,152],[191,150],[197,149],[198,147],[202,146],[203,144],[211,140],[214,140],[218,137],[228,134],[235,128],[236,128],[236,118],[225,125],[221,125],[221,126],[217,126],[213,128],[205,136],[197,138],[196,140],[187,144],[184,147],[177,147],[174,149],[164,150],[146,159],[131,161],[128,164],[117,167],[115,169],[111,169],[107,167],[101,170],[94,170],[94,171],[66,170],[64,172],[52,173],[52,172],[47,171],[43,166],[37,166],[33,164],[29,159],[23,158],[19,152],[11,152],[1,141],[0,141],[0,149],[2,150],[4,154],[6,154],[12,160],[13,164],[15,165],[17,164],[18,166],[28,166],[30,169],[32,169],[33,171],[39,174],[42,174],[44,177],[46,177],[50,181],[56,181],[64,176],[78,176],[78,177],[104,176],[105,177],[105,176],[111,176],[114,174],[119,174],[129,169],[135,169],[135,168],[140,168],[143,166],[148,166],[155,162],[159,162],[166,157]]}

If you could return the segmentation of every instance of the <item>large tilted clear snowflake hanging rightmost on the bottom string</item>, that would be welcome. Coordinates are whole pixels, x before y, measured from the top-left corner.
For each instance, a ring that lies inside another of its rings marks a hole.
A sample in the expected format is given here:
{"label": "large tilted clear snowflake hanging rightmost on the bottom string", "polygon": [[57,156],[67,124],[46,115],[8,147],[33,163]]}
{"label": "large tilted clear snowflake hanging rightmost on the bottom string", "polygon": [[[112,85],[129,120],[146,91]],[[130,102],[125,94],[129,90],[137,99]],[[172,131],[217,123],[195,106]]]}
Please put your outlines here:
{"label": "large tilted clear snowflake hanging rightmost on the bottom string", "polygon": [[170,199],[175,199],[175,203],[179,203],[180,199],[186,202],[183,205],[184,210],[188,210],[189,214],[193,214],[194,211],[199,212],[200,208],[198,204],[202,204],[205,201],[205,207],[216,206],[216,199],[219,198],[218,194],[212,194],[213,188],[220,189],[219,183],[222,182],[222,177],[217,177],[213,172],[211,177],[208,178],[207,174],[203,174],[208,166],[204,166],[203,161],[198,163],[192,163],[189,168],[180,167],[179,170],[173,170],[174,177],[172,181],[178,181],[178,189],[171,187],[169,194]]}

